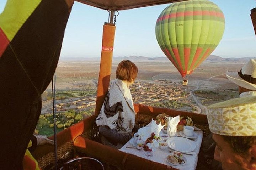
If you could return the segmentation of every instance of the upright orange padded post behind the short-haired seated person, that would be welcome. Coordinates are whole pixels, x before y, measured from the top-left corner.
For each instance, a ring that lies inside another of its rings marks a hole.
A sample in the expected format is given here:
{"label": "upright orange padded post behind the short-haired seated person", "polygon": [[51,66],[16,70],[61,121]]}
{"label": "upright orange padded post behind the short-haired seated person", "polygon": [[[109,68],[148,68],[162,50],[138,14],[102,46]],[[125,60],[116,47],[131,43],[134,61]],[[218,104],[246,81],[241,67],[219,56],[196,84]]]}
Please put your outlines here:
{"label": "upright orange padded post behind the short-haired seated person", "polygon": [[114,46],[114,35],[116,26],[112,23],[105,23],[103,26],[102,35],[102,49],[101,49],[101,62],[100,73],[98,78],[98,90],[95,115],[100,113],[101,106],[104,102],[105,96],[108,91],[108,85],[110,82],[110,74],[112,67],[112,56]]}

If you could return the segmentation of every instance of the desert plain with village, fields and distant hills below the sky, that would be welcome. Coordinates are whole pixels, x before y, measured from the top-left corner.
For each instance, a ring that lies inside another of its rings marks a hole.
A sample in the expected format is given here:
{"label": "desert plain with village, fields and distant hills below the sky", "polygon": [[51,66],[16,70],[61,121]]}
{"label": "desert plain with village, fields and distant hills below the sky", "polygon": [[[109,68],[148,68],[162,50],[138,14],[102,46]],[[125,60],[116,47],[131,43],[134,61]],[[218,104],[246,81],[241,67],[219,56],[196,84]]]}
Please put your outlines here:
{"label": "desert plain with village, fields and distant hills below the sky", "polygon": [[[130,87],[134,103],[205,114],[213,103],[239,97],[238,87],[225,73],[239,71],[250,58],[209,56],[191,75],[188,85],[166,57],[113,57],[111,80],[117,64],[131,60],[138,67]],[[100,58],[61,58],[56,70],[57,131],[94,114]],[[43,106],[36,132],[53,134],[52,85],[43,93]]]}

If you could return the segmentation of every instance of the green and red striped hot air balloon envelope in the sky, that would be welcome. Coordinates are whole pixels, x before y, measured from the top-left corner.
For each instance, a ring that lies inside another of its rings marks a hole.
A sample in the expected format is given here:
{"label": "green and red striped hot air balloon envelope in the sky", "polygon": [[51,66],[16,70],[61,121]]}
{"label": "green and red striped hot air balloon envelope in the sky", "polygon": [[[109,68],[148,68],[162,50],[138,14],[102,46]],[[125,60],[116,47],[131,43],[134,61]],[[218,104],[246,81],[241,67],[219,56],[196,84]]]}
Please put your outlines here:
{"label": "green and red striped hot air balloon envelope in the sky", "polygon": [[176,2],[156,21],[156,39],[182,77],[191,74],[217,47],[225,28],[223,12],[208,0]]}

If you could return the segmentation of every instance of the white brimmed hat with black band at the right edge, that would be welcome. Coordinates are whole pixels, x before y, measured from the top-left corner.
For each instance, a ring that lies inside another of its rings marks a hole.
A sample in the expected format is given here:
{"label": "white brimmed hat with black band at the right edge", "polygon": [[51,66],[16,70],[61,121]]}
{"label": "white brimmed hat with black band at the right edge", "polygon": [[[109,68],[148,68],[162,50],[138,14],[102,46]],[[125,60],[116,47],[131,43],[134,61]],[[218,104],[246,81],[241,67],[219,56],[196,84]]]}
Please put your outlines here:
{"label": "white brimmed hat with black band at the right edge", "polygon": [[228,72],[226,77],[241,87],[256,90],[256,61],[251,59],[240,72]]}

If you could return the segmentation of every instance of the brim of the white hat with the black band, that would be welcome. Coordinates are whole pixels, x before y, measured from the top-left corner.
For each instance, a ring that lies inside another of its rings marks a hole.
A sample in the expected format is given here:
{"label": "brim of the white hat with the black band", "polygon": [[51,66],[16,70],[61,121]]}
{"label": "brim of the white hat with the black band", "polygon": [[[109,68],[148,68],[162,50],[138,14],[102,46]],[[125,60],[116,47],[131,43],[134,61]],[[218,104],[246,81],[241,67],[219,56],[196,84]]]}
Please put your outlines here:
{"label": "brim of the white hat with the black band", "polygon": [[250,89],[250,90],[256,90],[256,84],[249,83],[248,81],[245,81],[238,75],[238,72],[228,72],[228,73],[226,73],[226,77],[230,81],[232,81],[233,83],[235,83],[241,87],[244,87],[244,88]]}

